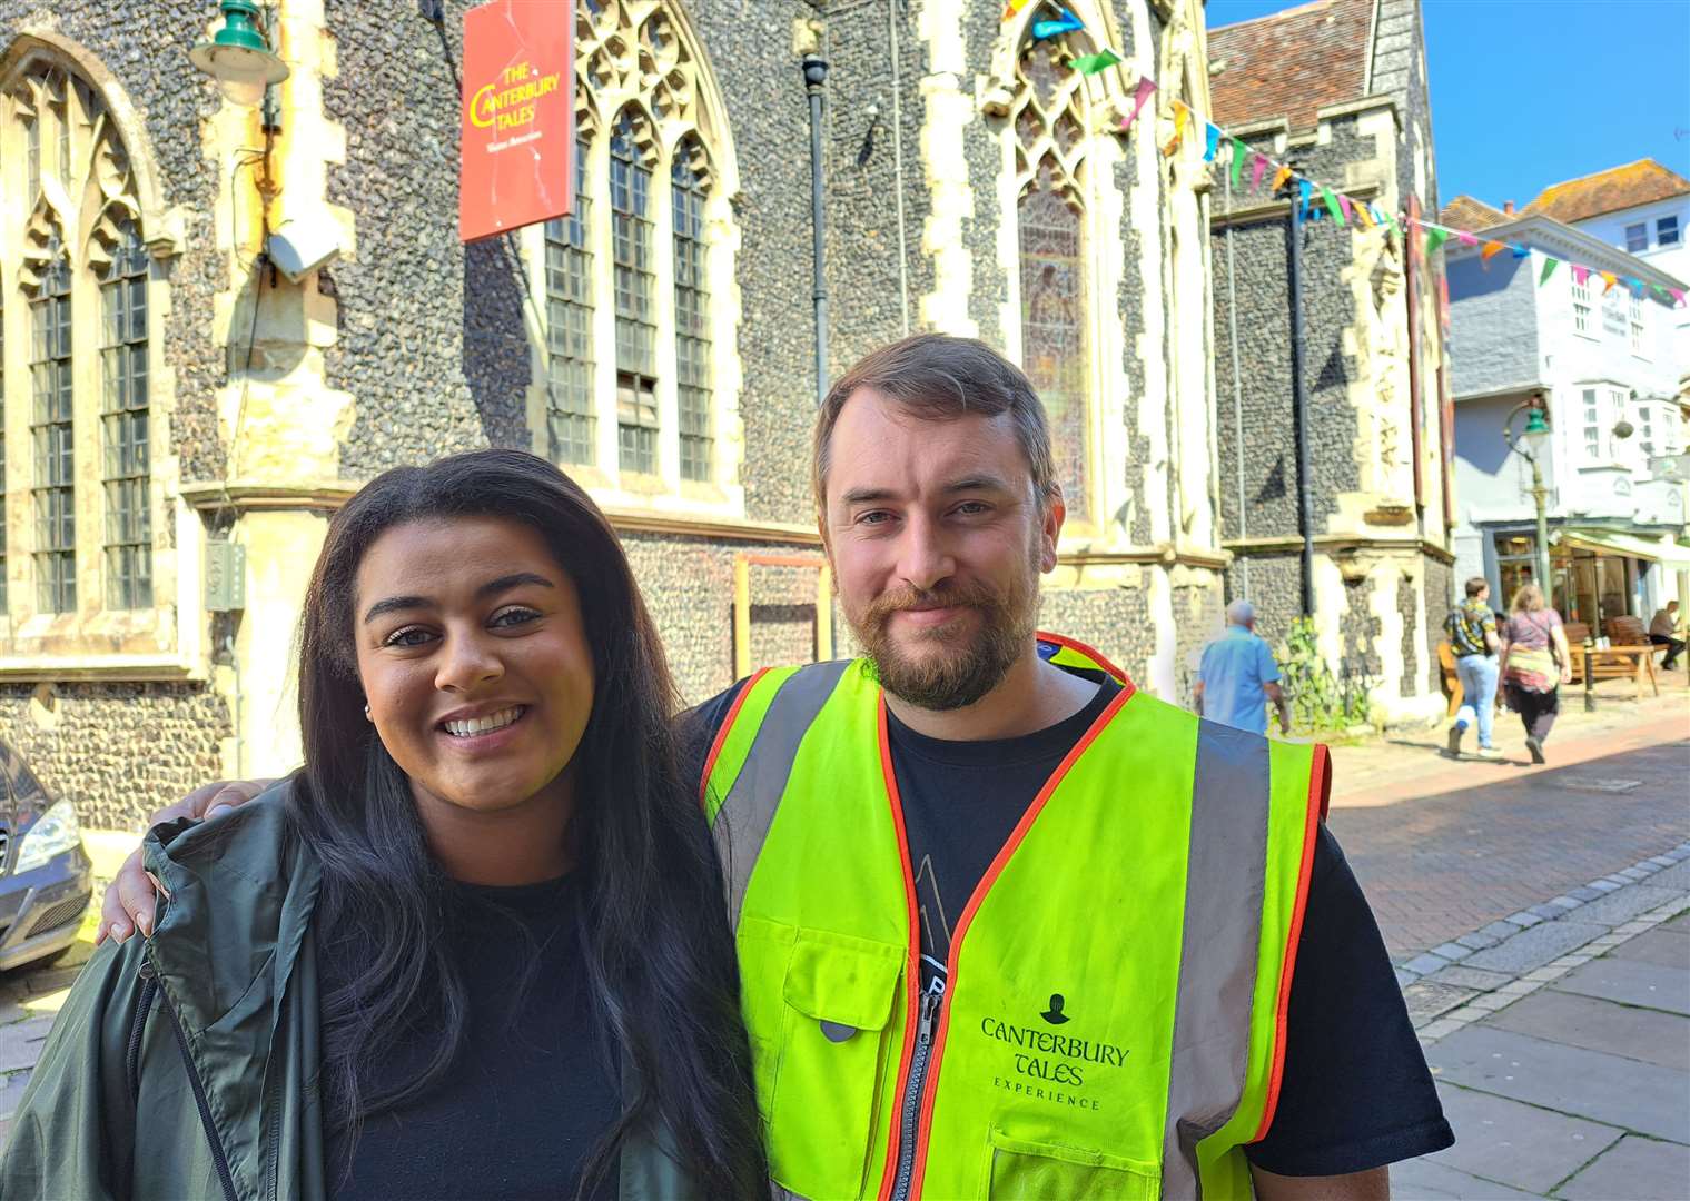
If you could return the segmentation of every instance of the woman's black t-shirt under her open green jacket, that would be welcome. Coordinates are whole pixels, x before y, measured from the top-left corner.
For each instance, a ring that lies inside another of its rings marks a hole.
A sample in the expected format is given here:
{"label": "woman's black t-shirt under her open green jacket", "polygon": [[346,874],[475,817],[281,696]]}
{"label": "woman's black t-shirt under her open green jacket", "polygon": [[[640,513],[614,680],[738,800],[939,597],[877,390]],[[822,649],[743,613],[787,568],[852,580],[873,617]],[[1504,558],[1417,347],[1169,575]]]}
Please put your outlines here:
{"label": "woman's black t-shirt under her open green jacket", "polygon": [[[468,992],[461,1051],[421,1100],[363,1123],[350,1176],[345,1144],[330,1132],[331,1198],[573,1198],[620,1111],[586,988],[575,878],[453,892],[441,937]],[[350,939],[326,944],[323,988],[346,980],[362,953]],[[419,1020],[384,1073],[404,1071],[438,1041],[439,1024]],[[612,1166],[592,1201],[610,1201],[615,1186]]]}

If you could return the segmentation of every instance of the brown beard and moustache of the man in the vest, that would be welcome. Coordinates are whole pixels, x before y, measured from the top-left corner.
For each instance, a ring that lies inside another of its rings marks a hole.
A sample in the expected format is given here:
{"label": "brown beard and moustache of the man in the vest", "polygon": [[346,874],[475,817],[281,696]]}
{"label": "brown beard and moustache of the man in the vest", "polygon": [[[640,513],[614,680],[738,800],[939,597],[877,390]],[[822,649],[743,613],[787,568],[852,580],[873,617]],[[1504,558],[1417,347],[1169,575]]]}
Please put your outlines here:
{"label": "brown beard and moustache of the man in the vest", "polygon": [[[935,606],[979,611],[979,633],[970,635],[953,618],[926,630],[906,630],[902,644],[892,637],[894,613]],[[984,583],[901,588],[877,596],[860,617],[848,610],[845,617],[869,652],[880,687],[918,709],[945,713],[973,704],[1004,682],[1033,642],[1038,606],[1038,568],[1033,568],[1004,593]],[[911,642],[923,644],[930,654],[909,654]]]}

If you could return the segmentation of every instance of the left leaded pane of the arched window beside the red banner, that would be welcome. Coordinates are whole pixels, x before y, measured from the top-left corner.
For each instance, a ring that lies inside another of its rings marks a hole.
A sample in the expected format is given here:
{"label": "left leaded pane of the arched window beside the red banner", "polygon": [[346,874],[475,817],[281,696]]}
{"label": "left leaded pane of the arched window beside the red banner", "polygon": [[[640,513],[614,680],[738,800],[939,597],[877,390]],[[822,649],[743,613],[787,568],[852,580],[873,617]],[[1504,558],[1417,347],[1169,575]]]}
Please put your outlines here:
{"label": "left leaded pane of the arched window beside the red banner", "polygon": [[575,211],[546,221],[546,370],[551,456],[592,463],[593,250],[588,243],[586,144],[575,144]]}

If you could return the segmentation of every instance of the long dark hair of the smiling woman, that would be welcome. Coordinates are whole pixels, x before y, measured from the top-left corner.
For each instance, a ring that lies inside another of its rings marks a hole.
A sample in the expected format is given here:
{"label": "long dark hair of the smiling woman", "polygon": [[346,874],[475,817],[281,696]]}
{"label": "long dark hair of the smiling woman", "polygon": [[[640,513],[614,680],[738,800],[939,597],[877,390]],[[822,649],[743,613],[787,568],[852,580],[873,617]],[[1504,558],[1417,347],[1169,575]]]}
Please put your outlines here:
{"label": "long dark hair of the smiling woman", "polygon": [[[465,992],[439,937],[450,887],[428,850],[406,774],[363,718],[353,649],[355,583],[385,530],[414,520],[500,517],[536,529],[581,600],[593,649],[593,711],[575,753],[571,838],[590,992],[639,1079],[581,1191],[635,1130],[666,1130],[710,1198],[767,1193],[750,1051],[722,880],[695,789],[676,765],[674,687],[656,627],[610,524],[551,463],[475,451],[395,468],[330,524],[301,623],[299,721],[306,765],[291,818],[323,865],[316,927],[362,931],[370,948],[323,997],[331,1128],[414,1100],[463,1041]],[[444,1037],[428,1062],[379,1091],[360,1081],[419,1014]]]}

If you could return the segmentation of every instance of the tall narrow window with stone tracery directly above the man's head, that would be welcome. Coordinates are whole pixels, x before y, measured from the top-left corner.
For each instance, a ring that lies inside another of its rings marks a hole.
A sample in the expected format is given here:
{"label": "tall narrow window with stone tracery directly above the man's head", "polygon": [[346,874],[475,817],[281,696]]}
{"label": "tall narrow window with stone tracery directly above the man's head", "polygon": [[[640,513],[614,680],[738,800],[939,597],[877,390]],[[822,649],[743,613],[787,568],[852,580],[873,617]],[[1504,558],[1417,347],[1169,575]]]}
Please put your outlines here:
{"label": "tall narrow window with stone tracery directly above the man's head", "polygon": [[1016,62],[1011,125],[1021,252],[1021,367],[1049,419],[1056,480],[1071,519],[1088,517],[1092,363],[1085,248],[1085,76],[1068,68],[1088,47],[1028,42]]}

